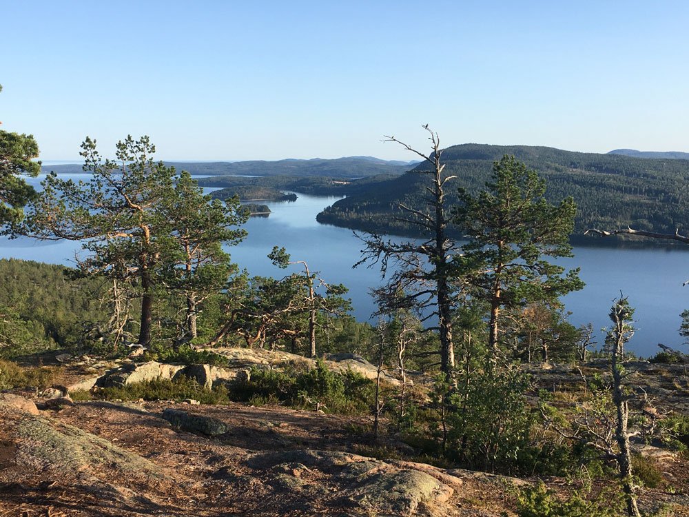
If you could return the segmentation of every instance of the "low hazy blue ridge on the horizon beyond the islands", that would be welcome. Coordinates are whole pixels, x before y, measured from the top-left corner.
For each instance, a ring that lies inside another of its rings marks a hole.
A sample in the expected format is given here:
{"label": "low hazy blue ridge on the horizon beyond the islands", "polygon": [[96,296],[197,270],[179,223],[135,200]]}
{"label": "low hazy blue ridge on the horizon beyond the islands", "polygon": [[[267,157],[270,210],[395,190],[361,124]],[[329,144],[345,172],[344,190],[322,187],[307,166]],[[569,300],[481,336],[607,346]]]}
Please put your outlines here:
{"label": "low hazy blue ridge on the horizon beyond the islands", "polygon": [[[278,161],[218,161],[176,162],[167,161],[177,170],[189,174],[212,176],[329,176],[333,178],[361,178],[378,174],[402,174],[418,162],[385,161],[371,156],[349,156],[338,159],[313,158],[310,160],[287,159]],[[82,172],[81,165],[48,165],[45,172]]]}

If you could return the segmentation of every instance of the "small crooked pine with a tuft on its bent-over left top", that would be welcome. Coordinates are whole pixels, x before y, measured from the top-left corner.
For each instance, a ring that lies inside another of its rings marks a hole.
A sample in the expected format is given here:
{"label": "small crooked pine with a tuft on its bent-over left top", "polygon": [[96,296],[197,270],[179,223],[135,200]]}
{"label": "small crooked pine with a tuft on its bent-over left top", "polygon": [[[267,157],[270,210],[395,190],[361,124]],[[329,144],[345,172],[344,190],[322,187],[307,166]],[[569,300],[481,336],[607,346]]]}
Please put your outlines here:
{"label": "small crooked pine with a tuft on its bent-over left top", "polygon": [[[302,298],[302,303],[297,304],[296,307],[301,307],[309,314],[309,352],[310,357],[316,357],[316,327],[320,326],[318,323],[318,313],[332,315],[343,315],[349,311],[351,305],[348,300],[342,298],[342,295],[347,293],[347,287],[342,284],[328,284],[317,273],[311,273],[309,265],[305,261],[290,261],[289,254],[284,247],[274,246],[273,250],[268,254],[268,258],[278,267],[285,269],[288,265],[301,264],[304,267],[304,274],[299,275],[305,290],[305,295]],[[293,275],[294,276],[294,275]],[[296,277],[295,277],[296,278]],[[327,290],[326,296],[322,296],[317,292],[318,287],[325,287]]]}

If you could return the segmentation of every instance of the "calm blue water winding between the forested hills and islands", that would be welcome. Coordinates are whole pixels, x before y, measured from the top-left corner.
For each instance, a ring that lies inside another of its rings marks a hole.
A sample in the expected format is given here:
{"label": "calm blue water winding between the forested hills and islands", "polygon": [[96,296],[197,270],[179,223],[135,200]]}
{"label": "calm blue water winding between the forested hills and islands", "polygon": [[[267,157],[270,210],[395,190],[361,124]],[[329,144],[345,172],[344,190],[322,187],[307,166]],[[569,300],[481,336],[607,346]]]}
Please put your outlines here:
{"label": "calm blue water winding between the forested hills and islands", "polygon": [[[31,183],[37,184],[37,179],[31,179]],[[380,271],[362,266],[353,270],[351,266],[360,258],[361,241],[351,230],[316,222],[316,214],[338,199],[298,194],[294,203],[265,203],[272,211],[270,216],[249,219],[245,225],[249,236],[228,251],[232,260],[250,274],[280,277],[285,270],[272,265],[266,255],[274,245],[284,246],[292,260],[307,261],[325,281],[347,285],[354,315],[363,321],[376,309],[369,289],[380,283]],[[1,258],[74,265],[79,248],[73,242],[0,239]],[[689,308],[689,286],[682,287],[689,278],[689,247],[575,247],[574,254],[574,258],[560,261],[566,267],[581,267],[586,282],[584,290],[564,298],[567,310],[572,312],[571,323],[590,322],[597,330],[608,326],[610,305],[621,290],[636,309],[637,332],[628,349],[650,356],[658,351],[657,343],[664,343],[686,352],[678,329],[679,313]],[[287,272],[298,270],[294,266]],[[602,342],[600,333],[598,341]]]}

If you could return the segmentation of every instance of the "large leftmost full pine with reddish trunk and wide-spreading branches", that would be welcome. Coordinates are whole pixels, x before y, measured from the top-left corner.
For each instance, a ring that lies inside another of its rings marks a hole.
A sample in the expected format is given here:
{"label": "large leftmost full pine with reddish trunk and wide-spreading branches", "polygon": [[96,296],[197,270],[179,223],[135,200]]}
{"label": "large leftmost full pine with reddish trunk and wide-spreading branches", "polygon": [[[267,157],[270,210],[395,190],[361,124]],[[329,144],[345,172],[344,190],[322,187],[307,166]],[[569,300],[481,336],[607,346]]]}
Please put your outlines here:
{"label": "large leftmost full pine with reddish trunk and wide-spreading branches", "polygon": [[23,232],[39,239],[83,241],[83,274],[136,284],[141,296],[138,343],[151,341],[156,288],[161,272],[180,262],[166,208],[174,201],[174,168],[155,163],[147,136],[127,136],[116,145],[116,161],[101,157],[96,141],[81,144],[83,170],[92,181],[63,181],[50,174],[29,207]]}

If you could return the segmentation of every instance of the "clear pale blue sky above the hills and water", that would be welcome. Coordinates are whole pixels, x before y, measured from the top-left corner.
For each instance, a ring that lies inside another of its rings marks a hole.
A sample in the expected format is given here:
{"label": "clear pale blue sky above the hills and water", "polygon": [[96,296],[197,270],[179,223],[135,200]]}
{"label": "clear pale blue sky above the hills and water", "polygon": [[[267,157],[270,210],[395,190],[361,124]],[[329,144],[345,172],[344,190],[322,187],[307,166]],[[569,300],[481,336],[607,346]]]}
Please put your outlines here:
{"label": "clear pale blue sky above the hills and water", "polygon": [[0,0],[2,128],[46,160],[689,151],[686,1]]}

